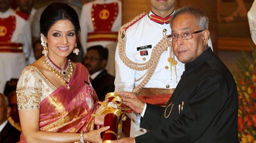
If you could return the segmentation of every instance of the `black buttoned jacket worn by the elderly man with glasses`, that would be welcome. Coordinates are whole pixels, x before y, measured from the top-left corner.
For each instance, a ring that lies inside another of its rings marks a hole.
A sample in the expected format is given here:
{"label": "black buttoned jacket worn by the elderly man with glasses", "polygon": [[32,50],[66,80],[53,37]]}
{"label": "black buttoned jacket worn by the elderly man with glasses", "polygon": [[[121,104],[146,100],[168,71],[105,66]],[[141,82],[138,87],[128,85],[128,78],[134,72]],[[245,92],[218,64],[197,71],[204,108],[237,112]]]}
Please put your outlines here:
{"label": "black buttoned jacket worn by the elderly man with glasses", "polygon": [[150,131],[136,143],[238,143],[236,83],[210,48],[185,65],[166,107],[147,104],[140,127]]}

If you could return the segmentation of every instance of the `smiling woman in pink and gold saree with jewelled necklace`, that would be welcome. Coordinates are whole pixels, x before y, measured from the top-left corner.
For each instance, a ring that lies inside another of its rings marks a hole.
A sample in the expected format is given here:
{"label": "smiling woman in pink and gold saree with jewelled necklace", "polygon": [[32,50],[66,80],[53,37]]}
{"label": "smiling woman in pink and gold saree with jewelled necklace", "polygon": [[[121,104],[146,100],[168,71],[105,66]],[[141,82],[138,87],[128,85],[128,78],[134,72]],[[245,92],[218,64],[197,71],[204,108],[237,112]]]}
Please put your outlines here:
{"label": "smiling woman in pink and gold saree with jewelled necklace", "polygon": [[98,97],[88,70],[67,56],[78,53],[78,16],[64,3],[52,3],[40,18],[45,56],[24,68],[17,84],[17,104],[22,126],[20,143],[101,143],[109,127],[94,117]]}

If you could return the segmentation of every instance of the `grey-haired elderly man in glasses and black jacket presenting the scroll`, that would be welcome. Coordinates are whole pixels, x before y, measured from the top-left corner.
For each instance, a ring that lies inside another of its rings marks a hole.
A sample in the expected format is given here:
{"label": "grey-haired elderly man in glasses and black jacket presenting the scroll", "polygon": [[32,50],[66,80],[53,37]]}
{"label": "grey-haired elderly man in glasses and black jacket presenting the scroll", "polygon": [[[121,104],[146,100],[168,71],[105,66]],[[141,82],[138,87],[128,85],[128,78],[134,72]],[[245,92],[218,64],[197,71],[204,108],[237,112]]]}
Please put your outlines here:
{"label": "grey-haired elderly man in glasses and black jacket presenting the scroll", "polygon": [[140,127],[150,131],[112,143],[238,143],[236,84],[208,48],[209,35],[202,11],[176,11],[167,37],[185,71],[165,108],[142,103],[133,93],[119,93],[123,103],[141,114]]}

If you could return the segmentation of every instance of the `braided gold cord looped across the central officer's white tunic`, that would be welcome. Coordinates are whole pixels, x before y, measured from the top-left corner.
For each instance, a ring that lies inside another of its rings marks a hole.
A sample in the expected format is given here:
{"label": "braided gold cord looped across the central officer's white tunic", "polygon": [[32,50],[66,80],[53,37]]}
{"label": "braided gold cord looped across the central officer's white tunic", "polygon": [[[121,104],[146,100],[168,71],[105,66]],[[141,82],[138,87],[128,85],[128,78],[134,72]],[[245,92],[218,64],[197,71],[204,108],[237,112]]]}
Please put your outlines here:
{"label": "braided gold cord looped across the central officer's white tunic", "polygon": [[132,23],[137,21],[139,18],[141,18],[145,13],[141,13],[139,16],[132,19],[130,22],[124,24],[122,27],[120,27],[118,32],[118,50],[119,50],[119,57],[121,61],[130,69],[134,69],[137,71],[143,71],[148,69],[146,71],[145,78],[141,81],[141,83],[136,86],[132,92],[138,93],[141,88],[143,88],[150,78],[152,77],[154,71],[156,70],[156,66],[158,65],[158,61],[162,55],[162,53],[167,50],[168,47],[171,47],[171,42],[167,39],[167,36],[164,36],[157,44],[154,46],[150,59],[145,63],[135,63],[128,59],[128,57],[125,54],[125,45],[126,45],[126,27],[130,26]]}

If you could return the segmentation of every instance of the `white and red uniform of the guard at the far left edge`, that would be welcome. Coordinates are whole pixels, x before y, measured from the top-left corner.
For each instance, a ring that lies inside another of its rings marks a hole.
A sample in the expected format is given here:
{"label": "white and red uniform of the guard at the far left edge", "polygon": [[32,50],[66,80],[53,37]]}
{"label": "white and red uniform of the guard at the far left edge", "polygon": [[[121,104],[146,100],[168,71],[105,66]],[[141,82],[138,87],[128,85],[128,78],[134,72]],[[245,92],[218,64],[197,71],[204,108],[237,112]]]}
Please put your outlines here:
{"label": "white and red uniform of the guard at the far left edge", "polygon": [[[6,25],[6,19],[12,19],[11,23]],[[12,23],[10,30],[8,26]],[[1,39],[6,34],[9,34],[9,38]],[[3,93],[5,83],[11,78],[19,78],[22,69],[26,67],[26,58],[32,48],[30,23],[9,8],[4,13],[0,12],[0,36],[0,93]]]}

